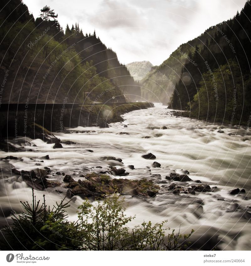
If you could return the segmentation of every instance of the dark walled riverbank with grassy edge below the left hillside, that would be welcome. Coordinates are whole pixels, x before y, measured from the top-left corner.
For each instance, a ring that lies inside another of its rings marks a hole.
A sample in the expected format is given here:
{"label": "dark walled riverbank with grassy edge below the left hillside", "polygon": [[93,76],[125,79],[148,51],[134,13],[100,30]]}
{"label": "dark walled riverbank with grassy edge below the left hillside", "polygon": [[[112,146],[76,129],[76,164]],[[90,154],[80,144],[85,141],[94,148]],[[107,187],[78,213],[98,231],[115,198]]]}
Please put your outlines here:
{"label": "dark walled riverbank with grassy edge below the left hillside", "polygon": [[[150,102],[120,103],[113,105],[88,104],[62,108],[51,105],[30,107],[30,109],[1,112],[0,123],[0,150],[21,151],[9,142],[8,139],[18,139],[26,136],[32,139],[41,139],[46,143],[55,143],[55,148],[62,148],[60,140],[51,132],[67,132],[66,127],[109,127],[109,123],[122,122],[121,115],[139,109],[154,107]],[[28,108],[28,107],[27,107]],[[43,109],[46,108],[46,109]],[[35,121],[35,123],[34,123]],[[18,140],[16,141],[18,142]]]}

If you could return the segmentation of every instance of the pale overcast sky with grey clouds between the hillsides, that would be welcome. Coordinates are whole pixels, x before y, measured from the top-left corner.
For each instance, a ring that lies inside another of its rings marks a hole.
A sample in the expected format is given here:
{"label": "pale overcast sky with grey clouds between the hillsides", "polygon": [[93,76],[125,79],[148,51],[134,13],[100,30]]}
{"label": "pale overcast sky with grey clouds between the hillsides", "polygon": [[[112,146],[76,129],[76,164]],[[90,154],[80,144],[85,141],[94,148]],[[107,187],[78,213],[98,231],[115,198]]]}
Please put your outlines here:
{"label": "pale overcast sky with grey clouds between the hillsides", "polygon": [[23,0],[34,17],[48,5],[65,29],[77,22],[96,34],[121,63],[160,65],[182,43],[232,18],[246,0]]}

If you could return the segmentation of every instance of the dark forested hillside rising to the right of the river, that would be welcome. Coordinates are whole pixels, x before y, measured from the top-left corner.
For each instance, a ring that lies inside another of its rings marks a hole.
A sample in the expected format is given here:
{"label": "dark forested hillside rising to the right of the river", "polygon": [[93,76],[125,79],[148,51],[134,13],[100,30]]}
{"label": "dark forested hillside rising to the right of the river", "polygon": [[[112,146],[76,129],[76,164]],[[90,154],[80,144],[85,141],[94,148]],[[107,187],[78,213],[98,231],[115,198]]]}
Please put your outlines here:
{"label": "dark forested hillside rising to the right of the river", "polygon": [[[251,2],[236,16],[182,44],[142,82],[171,108],[230,123],[250,115]],[[155,97],[156,98],[156,97]]]}

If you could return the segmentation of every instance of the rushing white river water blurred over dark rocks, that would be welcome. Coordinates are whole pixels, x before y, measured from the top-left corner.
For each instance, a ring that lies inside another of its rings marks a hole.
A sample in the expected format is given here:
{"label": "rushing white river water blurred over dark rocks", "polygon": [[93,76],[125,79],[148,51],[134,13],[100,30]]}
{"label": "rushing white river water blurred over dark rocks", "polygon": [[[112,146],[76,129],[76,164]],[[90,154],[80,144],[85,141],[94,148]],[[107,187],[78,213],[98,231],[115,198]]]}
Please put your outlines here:
{"label": "rushing white river water blurred over dark rocks", "polygon": [[[116,110],[113,110],[114,112]],[[131,179],[158,179],[152,177],[160,174],[165,180],[170,170],[188,170],[192,180],[201,180],[211,187],[217,186],[215,192],[174,195],[161,189],[153,198],[131,198],[126,196],[127,213],[136,215],[132,225],[143,220],[161,222],[168,220],[171,228],[181,227],[181,232],[195,229],[192,241],[198,246],[216,243],[225,250],[251,249],[251,131],[246,128],[221,127],[218,124],[206,123],[184,117],[171,116],[170,109],[155,104],[154,108],[137,110],[125,114],[123,123],[110,124],[109,128],[74,128],[72,130],[89,130],[89,133],[55,133],[62,141],[71,140],[77,144],[63,144],[63,149],[52,149],[54,144],[46,144],[36,139],[19,138],[20,145],[27,149],[24,152],[0,152],[1,158],[13,155],[23,160],[2,160],[3,179],[0,185],[0,202],[5,215],[8,216],[10,206],[16,212],[21,211],[19,201],[30,201],[30,188],[18,176],[11,176],[10,169],[32,170],[50,167],[51,174],[57,171],[75,174],[75,180],[83,171],[100,171],[96,166],[108,169],[107,161],[102,156],[121,158],[121,164],[130,174]],[[127,128],[124,128],[127,125]],[[168,129],[162,129],[166,126]],[[224,133],[217,133],[222,128]],[[129,133],[127,134],[120,134]],[[233,133],[235,135],[227,135]],[[149,136],[150,138],[144,138]],[[246,138],[243,141],[243,138]],[[36,144],[37,147],[31,147]],[[32,149],[32,151],[28,151]],[[92,149],[93,153],[87,151]],[[161,164],[161,168],[152,168],[152,160],[143,159],[142,154],[151,152],[156,156],[154,161]],[[43,160],[42,156],[49,154],[50,160]],[[35,165],[39,163],[40,166]],[[135,170],[128,168],[134,165]],[[117,164],[119,165],[119,163]],[[147,168],[151,167],[151,172]],[[74,172],[75,171],[75,172]],[[51,180],[61,179],[59,175],[51,175]],[[115,177],[114,177],[115,178]],[[190,182],[190,184],[195,184]],[[169,184],[160,184],[160,186]],[[229,195],[234,188],[244,188],[246,194]],[[55,188],[47,191],[36,191],[38,197],[46,194],[47,204],[60,201],[65,194],[58,194]],[[218,198],[225,201],[219,201]],[[69,208],[70,219],[76,219],[77,206],[82,203],[79,196]],[[218,240],[217,240],[218,239]],[[206,246],[205,246],[206,248]]]}

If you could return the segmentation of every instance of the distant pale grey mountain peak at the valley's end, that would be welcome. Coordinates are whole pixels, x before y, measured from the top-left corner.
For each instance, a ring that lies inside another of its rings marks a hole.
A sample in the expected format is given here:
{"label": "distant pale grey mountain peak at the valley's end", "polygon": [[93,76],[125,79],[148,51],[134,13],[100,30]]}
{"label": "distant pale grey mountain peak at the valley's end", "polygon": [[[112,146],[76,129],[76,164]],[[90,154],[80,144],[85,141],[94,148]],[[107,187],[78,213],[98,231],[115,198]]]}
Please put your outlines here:
{"label": "distant pale grey mountain peak at the valley's end", "polygon": [[151,71],[152,66],[152,63],[146,60],[135,61],[126,65],[135,81],[141,81]]}

